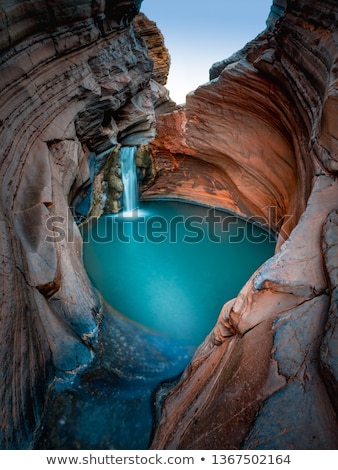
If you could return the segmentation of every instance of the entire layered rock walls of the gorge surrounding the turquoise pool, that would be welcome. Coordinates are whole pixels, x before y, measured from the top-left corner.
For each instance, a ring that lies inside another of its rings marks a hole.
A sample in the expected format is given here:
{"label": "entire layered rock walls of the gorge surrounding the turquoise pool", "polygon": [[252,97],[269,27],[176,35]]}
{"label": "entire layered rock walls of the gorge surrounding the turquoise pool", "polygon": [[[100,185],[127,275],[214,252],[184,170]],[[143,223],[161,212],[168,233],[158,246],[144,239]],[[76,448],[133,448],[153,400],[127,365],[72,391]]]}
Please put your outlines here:
{"label": "entire layered rock walls of the gorge surrounding the turquoise pool", "polygon": [[136,357],[142,335],[103,308],[75,220],[111,149],[152,139],[145,198],[279,233],[169,391],[152,448],[337,448],[336,0],[275,0],[267,30],[175,110],[163,37],[133,21],[140,6],[1,2],[0,448],[34,447],[50,390],[103,350],[107,370]]}

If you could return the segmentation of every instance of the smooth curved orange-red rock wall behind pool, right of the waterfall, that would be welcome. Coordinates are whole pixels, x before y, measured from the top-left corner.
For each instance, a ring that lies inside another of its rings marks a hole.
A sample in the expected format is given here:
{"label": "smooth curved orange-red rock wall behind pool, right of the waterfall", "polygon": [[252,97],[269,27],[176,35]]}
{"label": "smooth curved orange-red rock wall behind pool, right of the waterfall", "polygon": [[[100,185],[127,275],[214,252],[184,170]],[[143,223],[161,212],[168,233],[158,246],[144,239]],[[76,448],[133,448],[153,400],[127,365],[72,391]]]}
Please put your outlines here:
{"label": "smooth curved orange-red rock wall behind pool, right of the waterfall", "polygon": [[[185,109],[160,116],[152,142],[159,177],[144,196],[162,194],[169,184],[170,195],[200,200],[204,192],[207,200],[211,193],[213,204],[245,216],[268,220],[270,208],[275,207],[276,221],[271,226],[281,223],[285,214],[294,213],[296,162],[288,137],[291,123],[286,128],[282,124],[287,119],[282,113],[289,111],[283,104],[269,107],[261,103],[273,94],[276,102],[283,103],[279,90],[241,61],[225,69],[217,81],[190,93]],[[186,160],[195,162],[195,171],[192,163],[190,166],[191,174],[200,179],[197,194],[186,186]],[[162,165],[170,166],[172,161],[176,164],[170,173],[162,172]],[[214,184],[211,173],[217,175]],[[208,180],[203,184],[205,177]]]}

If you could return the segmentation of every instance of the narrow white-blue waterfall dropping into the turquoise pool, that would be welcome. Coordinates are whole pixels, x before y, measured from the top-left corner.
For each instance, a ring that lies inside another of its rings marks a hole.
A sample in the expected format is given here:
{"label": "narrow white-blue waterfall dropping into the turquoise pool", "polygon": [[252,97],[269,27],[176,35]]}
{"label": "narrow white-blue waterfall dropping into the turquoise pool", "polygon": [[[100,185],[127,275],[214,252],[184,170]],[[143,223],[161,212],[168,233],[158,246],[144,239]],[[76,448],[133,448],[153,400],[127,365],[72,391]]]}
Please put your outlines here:
{"label": "narrow white-blue waterfall dropping into the turquoise pool", "polygon": [[137,147],[121,147],[121,167],[123,183],[123,213],[132,213],[138,208],[138,183],[135,165]]}

